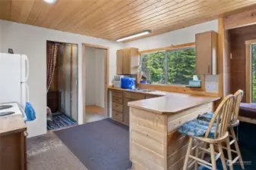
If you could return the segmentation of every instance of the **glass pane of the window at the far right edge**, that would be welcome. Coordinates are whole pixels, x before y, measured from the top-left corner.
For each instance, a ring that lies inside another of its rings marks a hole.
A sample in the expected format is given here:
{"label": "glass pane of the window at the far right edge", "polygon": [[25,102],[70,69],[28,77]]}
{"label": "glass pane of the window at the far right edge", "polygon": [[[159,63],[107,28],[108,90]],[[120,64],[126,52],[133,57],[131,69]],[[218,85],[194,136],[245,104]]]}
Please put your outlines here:
{"label": "glass pane of the window at the far right edge", "polygon": [[256,45],[251,45],[251,102],[256,103]]}

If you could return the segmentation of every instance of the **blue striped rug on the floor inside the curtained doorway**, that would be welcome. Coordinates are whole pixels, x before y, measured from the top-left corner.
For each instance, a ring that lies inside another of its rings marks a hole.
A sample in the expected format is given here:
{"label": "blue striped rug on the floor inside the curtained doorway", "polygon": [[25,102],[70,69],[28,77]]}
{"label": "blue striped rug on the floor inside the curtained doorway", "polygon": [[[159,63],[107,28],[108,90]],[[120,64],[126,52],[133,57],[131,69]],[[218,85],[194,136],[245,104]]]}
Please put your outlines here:
{"label": "blue striped rug on the floor inside the curtained doorway", "polygon": [[52,116],[52,122],[47,122],[47,130],[64,128],[69,125],[75,125],[76,122],[64,113]]}

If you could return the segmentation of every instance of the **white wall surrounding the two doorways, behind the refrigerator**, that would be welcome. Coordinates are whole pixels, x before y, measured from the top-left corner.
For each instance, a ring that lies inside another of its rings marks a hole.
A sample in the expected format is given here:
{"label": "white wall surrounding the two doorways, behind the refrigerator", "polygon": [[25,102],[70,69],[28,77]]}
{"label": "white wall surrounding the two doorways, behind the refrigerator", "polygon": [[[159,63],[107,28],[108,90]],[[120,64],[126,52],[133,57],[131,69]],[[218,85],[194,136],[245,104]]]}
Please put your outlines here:
{"label": "white wall surrounding the two doorways, behind the refrigerator", "polygon": [[27,54],[30,60],[30,103],[36,110],[36,120],[27,123],[30,137],[46,133],[46,40],[78,44],[78,123],[82,123],[82,43],[109,47],[109,83],[115,75],[116,51],[124,48],[124,44],[6,20],[0,20],[0,25],[3,42],[0,52],[13,48],[14,53]]}

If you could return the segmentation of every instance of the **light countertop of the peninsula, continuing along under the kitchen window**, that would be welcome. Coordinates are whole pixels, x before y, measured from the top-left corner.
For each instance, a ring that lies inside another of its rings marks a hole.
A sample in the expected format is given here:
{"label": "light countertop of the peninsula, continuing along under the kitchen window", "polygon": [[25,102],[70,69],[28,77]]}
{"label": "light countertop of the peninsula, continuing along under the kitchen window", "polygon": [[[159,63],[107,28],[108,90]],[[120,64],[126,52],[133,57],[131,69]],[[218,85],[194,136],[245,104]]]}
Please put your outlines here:
{"label": "light countertop of the peninsula, continuing along under the kitchen window", "polygon": [[129,91],[134,93],[143,94],[155,94],[161,97],[154,97],[145,100],[136,100],[128,103],[129,107],[134,107],[141,110],[147,110],[158,114],[175,114],[188,110],[191,107],[196,107],[201,104],[207,104],[216,100],[220,100],[220,97],[207,97],[201,95],[181,94],[167,91],[131,91],[122,88],[109,88],[112,90]]}

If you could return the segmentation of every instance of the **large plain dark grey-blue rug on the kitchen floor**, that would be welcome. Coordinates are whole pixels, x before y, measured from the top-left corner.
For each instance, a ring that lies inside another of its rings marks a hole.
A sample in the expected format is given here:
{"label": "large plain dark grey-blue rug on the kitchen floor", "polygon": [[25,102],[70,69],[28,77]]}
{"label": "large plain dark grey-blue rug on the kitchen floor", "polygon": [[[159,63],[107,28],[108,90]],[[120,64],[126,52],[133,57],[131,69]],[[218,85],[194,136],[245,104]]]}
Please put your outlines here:
{"label": "large plain dark grey-blue rug on the kitchen floor", "polygon": [[88,170],[131,168],[126,125],[108,118],[55,131],[55,134]]}

